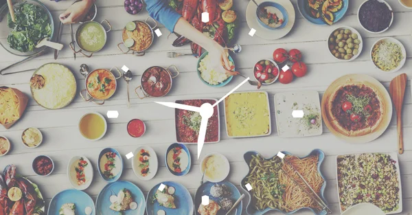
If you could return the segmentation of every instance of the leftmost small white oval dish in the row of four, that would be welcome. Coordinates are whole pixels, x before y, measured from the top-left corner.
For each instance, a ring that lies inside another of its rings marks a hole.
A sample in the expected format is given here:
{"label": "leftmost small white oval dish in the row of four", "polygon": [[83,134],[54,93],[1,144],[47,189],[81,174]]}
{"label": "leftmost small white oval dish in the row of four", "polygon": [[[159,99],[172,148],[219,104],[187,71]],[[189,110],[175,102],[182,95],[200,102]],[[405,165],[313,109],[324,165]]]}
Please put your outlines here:
{"label": "leftmost small white oval dish in the row of four", "polygon": [[[84,174],[86,177],[86,181],[82,185],[78,185],[76,179],[76,170],[75,166],[77,166],[78,161],[80,158],[83,158],[84,161],[87,161],[87,166],[84,168]],[[74,156],[70,159],[69,163],[67,163],[67,178],[69,179],[71,185],[76,190],[86,190],[91,185],[91,181],[93,181],[93,166],[89,159],[86,156]]]}

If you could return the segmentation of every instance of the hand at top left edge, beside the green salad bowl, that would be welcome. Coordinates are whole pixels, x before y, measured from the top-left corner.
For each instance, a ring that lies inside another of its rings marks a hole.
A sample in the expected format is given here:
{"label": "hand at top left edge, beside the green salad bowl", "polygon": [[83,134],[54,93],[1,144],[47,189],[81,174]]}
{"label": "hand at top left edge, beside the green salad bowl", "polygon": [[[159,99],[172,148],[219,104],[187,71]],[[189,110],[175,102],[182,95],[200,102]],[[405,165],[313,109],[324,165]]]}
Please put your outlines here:
{"label": "hand at top left edge, beside the green salad bowl", "polygon": [[86,16],[92,5],[92,0],[82,0],[73,3],[69,9],[58,16],[58,19],[60,19],[63,24],[78,23]]}

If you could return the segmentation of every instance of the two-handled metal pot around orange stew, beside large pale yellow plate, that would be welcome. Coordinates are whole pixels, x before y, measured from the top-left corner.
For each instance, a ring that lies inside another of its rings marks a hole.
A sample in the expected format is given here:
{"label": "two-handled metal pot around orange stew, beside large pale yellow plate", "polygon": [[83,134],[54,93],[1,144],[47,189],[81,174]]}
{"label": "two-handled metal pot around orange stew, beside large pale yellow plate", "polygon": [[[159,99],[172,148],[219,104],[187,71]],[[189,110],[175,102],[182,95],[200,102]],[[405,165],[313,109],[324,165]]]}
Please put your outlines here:
{"label": "two-handled metal pot around orange stew, beside large pale yellow plate", "polygon": [[[104,104],[104,100],[102,100],[102,99],[100,99],[100,98],[95,98],[95,97],[93,97],[93,95],[91,95],[91,93],[89,92],[89,88],[87,87],[87,79],[89,78],[89,76],[90,76],[93,72],[97,72],[98,70],[108,71],[108,73],[111,73],[111,75],[112,75],[112,78],[113,78],[112,80],[115,81],[115,90],[113,91],[113,94],[110,95],[108,98],[105,98],[105,100],[108,100],[109,98],[111,98],[111,97],[115,94],[116,89],[117,89],[117,79],[122,78],[122,72],[120,72],[120,70],[119,70],[117,67],[112,67],[111,69],[95,69],[95,70],[93,70],[93,71],[91,71],[91,72],[88,71],[89,68],[87,67],[87,65],[81,65],[80,67],[81,67],[80,73],[81,73],[81,74],[84,76],[84,78],[85,78],[85,80],[84,80],[84,89],[82,89],[82,91],[80,91],[80,96],[83,98],[84,101],[86,101],[86,102],[91,101],[91,102],[93,102],[93,103],[95,103],[95,104],[99,104],[99,105]],[[119,73],[119,76],[118,76],[118,77],[115,77],[115,75],[114,75],[114,73],[113,73],[113,71],[112,71],[113,69],[116,69],[117,73]],[[86,94],[83,95],[83,92],[86,92]],[[100,101],[102,101],[102,102],[96,102],[96,100],[100,100]]]}

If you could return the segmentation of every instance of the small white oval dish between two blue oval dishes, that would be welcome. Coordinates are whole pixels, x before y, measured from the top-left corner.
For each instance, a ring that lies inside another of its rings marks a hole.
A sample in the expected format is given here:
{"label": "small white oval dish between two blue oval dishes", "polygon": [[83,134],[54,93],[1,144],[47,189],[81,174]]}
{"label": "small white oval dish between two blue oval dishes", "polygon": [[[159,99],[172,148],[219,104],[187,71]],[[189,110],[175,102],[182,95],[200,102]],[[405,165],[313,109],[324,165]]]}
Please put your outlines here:
{"label": "small white oval dish between two blue oval dishes", "polygon": [[[141,163],[139,161],[139,157],[140,157],[140,150],[144,149],[146,151],[149,152],[150,157],[149,157],[149,173],[146,177],[142,176],[140,174],[141,168],[139,167],[139,164]],[[153,150],[152,148],[150,148],[149,146],[140,146],[139,148],[137,148],[134,152],[134,157],[132,159],[132,168],[133,168],[133,172],[135,172],[136,177],[138,179],[144,180],[144,181],[148,181],[150,179],[152,179],[153,177],[155,177],[156,173],[157,173],[157,169],[159,168],[159,161],[157,160],[157,155],[155,150]]]}

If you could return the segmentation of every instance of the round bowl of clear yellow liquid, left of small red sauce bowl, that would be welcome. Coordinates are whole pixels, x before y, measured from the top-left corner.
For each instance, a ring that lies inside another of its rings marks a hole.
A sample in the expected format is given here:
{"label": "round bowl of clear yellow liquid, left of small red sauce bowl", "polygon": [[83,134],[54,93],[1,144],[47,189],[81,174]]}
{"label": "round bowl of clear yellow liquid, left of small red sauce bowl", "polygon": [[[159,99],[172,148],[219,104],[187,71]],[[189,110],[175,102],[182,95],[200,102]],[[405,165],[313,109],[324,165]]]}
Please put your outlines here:
{"label": "round bowl of clear yellow liquid, left of small red sauce bowl", "polygon": [[101,139],[107,131],[107,122],[100,113],[86,113],[80,118],[79,130],[86,139]]}

